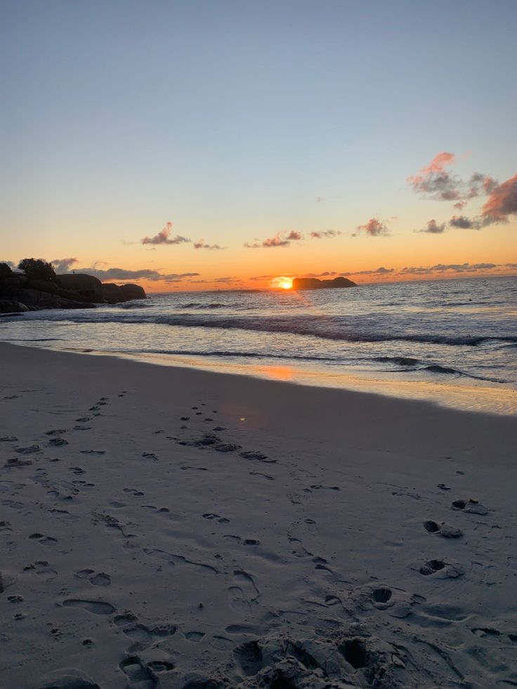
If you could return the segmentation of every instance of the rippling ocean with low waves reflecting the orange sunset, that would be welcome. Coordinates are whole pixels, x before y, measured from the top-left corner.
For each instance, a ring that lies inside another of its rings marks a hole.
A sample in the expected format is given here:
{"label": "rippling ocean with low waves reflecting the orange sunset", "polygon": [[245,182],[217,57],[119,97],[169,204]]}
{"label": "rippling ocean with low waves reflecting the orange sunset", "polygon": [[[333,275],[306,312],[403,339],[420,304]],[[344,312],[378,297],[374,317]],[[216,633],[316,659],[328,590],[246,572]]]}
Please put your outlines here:
{"label": "rippling ocean with low waves reflecting the orange sunset", "polygon": [[152,294],[0,320],[0,341],[517,414],[517,277]]}

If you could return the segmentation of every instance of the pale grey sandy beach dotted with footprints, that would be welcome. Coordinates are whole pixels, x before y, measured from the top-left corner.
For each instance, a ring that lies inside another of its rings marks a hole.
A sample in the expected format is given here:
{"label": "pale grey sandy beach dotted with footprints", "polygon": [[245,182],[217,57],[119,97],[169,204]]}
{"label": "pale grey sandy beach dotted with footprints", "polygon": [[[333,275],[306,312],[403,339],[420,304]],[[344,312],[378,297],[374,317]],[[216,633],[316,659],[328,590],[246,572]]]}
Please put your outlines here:
{"label": "pale grey sandy beach dotted with footprints", "polygon": [[0,346],[0,686],[517,685],[515,417]]}

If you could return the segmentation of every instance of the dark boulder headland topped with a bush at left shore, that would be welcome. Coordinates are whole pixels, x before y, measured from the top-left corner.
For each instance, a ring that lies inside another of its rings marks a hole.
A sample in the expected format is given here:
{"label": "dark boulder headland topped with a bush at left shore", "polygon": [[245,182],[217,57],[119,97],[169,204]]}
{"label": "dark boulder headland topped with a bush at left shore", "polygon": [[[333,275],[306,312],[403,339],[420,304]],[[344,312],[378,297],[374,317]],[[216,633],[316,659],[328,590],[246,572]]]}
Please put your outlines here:
{"label": "dark boulder headland topped with a bush at left shore", "polygon": [[138,284],[100,282],[86,273],[56,275],[51,263],[34,258],[20,262],[19,270],[0,263],[0,313],[24,313],[46,308],[95,308],[145,299]]}

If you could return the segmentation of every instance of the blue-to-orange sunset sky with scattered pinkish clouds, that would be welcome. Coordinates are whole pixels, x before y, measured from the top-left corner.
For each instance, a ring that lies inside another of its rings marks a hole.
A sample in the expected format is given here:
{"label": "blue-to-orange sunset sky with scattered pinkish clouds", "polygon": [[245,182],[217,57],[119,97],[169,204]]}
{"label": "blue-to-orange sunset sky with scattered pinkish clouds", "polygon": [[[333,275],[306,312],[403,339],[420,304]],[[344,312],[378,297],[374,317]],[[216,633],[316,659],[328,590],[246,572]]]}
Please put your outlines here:
{"label": "blue-to-orange sunset sky with scattered pinkish clouds", "polygon": [[0,0],[0,261],[517,274],[515,0]]}

